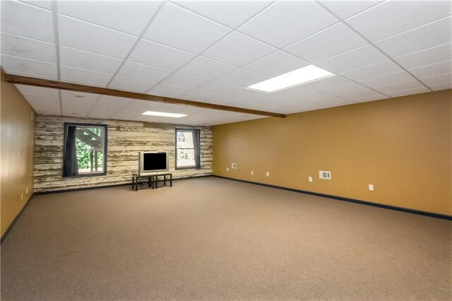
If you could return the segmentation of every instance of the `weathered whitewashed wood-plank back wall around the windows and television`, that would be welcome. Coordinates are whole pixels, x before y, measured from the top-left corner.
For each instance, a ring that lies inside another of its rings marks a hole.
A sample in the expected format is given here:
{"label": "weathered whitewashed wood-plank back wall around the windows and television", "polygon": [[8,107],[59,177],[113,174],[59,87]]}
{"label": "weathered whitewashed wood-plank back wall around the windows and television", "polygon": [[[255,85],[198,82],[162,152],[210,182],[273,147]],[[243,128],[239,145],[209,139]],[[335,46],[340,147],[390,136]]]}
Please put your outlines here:
{"label": "weathered whitewashed wood-plank back wall around the windows and television", "polygon": [[[63,179],[64,122],[107,124],[107,175]],[[201,169],[174,170],[176,128],[200,129]],[[131,183],[131,175],[138,172],[139,151],[166,151],[169,155],[169,172],[172,172],[174,178],[212,174],[210,126],[37,116],[35,192]]]}

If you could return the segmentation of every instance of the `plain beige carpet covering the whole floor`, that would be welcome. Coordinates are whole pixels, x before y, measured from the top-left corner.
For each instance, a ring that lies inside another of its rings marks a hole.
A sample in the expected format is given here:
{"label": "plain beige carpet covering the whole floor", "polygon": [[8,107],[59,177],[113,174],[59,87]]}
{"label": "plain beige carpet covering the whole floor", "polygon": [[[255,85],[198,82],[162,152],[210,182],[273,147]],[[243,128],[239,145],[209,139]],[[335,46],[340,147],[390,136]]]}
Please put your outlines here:
{"label": "plain beige carpet covering the whole floor", "polygon": [[1,300],[451,300],[447,220],[214,177],[34,196]]}

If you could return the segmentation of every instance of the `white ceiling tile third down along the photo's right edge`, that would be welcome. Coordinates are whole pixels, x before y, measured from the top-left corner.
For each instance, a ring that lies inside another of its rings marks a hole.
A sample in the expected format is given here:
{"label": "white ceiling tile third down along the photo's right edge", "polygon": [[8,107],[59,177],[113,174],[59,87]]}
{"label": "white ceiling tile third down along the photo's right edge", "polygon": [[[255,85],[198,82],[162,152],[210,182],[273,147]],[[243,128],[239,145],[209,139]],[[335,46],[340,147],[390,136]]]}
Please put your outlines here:
{"label": "white ceiling tile third down along the photo's right edge", "polygon": [[407,69],[415,69],[427,66],[441,61],[452,60],[452,44],[440,45],[429,49],[396,57],[396,61]]}

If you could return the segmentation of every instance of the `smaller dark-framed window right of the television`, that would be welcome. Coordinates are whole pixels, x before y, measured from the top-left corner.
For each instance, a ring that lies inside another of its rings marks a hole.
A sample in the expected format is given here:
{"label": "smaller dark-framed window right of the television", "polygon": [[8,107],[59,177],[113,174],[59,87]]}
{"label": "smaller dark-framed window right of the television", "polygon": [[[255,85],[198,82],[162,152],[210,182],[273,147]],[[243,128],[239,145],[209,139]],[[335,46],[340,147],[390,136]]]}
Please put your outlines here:
{"label": "smaller dark-framed window right of the television", "polygon": [[199,168],[199,130],[176,129],[176,169]]}

